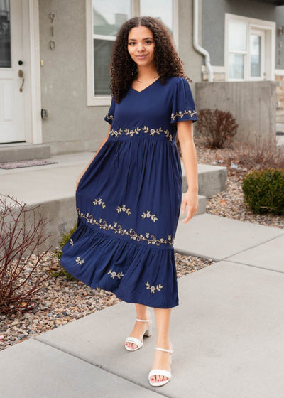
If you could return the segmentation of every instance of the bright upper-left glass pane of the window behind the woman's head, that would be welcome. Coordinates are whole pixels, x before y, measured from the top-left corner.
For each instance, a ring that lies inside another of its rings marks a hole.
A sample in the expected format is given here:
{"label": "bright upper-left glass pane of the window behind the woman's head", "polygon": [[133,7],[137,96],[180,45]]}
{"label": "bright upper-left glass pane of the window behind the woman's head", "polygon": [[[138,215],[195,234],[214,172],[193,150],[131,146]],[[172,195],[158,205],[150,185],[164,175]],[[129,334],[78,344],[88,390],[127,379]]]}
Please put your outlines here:
{"label": "bright upper-left glass pane of the window behind the woman's head", "polygon": [[131,0],[93,0],[93,33],[116,36],[121,25],[131,18]]}

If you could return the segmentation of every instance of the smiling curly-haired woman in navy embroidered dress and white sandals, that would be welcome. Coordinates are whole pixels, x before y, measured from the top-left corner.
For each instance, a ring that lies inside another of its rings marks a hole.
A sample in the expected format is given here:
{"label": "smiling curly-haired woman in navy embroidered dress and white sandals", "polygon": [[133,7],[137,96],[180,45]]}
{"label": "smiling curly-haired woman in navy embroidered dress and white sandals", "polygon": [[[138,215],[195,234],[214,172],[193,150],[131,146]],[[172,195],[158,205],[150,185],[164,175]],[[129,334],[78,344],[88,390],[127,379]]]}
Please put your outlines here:
{"label": "smiling curly-haired woman in navy embroidered dress and white sandals", "polygon": [[[136,323],[125,348],[157,342],[149,382],[171,377],[171,308],[178,305],[173,240],[180,204],[198,207],[197,120],[190,86],[170,34],[151,17],[131,18],[117,35],[111,58],[109,131],[77,179],[77,230],[63,247],[62,266],[77,279],[136,304]],[[182,200],[178,134],[188,190]]]}

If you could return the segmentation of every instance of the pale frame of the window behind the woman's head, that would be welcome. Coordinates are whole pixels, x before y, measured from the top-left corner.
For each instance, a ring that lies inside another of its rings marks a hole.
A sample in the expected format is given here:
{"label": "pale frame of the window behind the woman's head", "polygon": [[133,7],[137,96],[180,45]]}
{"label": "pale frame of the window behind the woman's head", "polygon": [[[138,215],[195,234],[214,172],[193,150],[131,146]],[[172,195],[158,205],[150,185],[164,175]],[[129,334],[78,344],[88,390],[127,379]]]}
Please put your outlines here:
{"label": "pale frame of the window behind the woman's head", "polygon": [[[131,18],[138,16],[140,0],[131,0]],[[96,38],[114,41],[115,36],[95,35]],[[94,44],[93,44],[92,0],[86,0],[86,65],[87,107],[103,107],[111,104],[111,95],[94,95]],[[173,40],[178,49],[178,0],[173,0]]]}

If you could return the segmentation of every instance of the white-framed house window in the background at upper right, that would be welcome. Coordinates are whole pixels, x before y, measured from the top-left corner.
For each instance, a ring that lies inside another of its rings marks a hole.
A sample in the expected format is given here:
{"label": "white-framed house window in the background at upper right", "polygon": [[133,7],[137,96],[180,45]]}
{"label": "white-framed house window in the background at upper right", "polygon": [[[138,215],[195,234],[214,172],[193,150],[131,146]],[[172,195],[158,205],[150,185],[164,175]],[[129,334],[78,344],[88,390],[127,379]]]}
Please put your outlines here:
{"label": "white-framed house window in the background at upper right", "polygon": [[274,80],[275,22],[226,14],[226,80]]}

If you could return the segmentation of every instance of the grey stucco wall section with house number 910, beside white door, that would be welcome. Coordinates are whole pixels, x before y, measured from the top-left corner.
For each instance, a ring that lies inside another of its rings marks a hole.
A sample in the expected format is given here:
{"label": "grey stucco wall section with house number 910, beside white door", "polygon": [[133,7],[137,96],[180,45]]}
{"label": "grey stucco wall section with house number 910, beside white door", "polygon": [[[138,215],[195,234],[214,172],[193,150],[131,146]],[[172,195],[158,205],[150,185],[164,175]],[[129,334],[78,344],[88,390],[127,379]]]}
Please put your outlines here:
{"label": "grey stucco wall section with house number 910, beside white door", "polygon": [[[55,50],[50,49],[55,12]],[[94,151],[109,124],[108,107],[87,107],[86,20],[84,0],[39,0],[41,104],[50,117],[43,119],[43,143],[51,153]]]}

